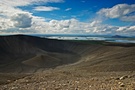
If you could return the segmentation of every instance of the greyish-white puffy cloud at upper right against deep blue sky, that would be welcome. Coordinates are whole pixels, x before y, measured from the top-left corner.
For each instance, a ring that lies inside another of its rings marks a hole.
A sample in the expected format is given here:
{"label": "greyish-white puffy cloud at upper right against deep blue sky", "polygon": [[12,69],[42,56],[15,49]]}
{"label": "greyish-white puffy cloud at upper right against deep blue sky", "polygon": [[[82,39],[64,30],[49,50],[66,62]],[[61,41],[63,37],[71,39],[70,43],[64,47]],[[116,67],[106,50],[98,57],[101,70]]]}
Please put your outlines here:
{"label": "greyish-white puffy cloud at upper right against deep blue sky", "polygon": [[[135,4],[128,5],[128,4],[118,4],[113,6],[112,8],[103,8],[97,14],[103,15],[108,18],[120,18],[123,21],[132,21],[131,13],[135,12]],[[129,14],[131,14],[129,16]],[[127,20],[129,19],[129,20]]]}

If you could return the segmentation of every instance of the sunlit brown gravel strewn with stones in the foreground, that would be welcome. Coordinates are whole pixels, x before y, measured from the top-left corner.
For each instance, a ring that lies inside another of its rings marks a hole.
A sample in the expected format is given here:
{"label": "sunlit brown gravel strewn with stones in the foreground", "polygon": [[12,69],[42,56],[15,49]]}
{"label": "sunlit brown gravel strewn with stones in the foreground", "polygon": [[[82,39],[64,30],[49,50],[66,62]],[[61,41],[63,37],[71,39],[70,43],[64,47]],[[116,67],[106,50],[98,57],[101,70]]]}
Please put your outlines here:
{"label": "sunlit brown gravel strewn with stones in the foreground", "polygon": [[6,82],[0,85],[0,90],[135,90],[135,72],[54,69]]}

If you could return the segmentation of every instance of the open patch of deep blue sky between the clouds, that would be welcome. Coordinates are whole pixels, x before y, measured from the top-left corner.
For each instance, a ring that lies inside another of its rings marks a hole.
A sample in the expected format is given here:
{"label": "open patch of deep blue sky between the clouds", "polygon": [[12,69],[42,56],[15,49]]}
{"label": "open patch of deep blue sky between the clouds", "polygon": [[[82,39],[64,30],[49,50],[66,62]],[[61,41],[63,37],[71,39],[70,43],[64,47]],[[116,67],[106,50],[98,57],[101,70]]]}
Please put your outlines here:
{"label": "open patch of deep blue sky between the clouds", "polygon": [[[70,19],[70,18],[77,18],[80,21],[90,21],[92,18],[96,15],[96,12],[98,12],[102,8],[111,8],[117,4],[133,4],[135,3],[133,0],[113,0],[111,3],[109,0],[65,0],[60,3],[42,3],[39,5],[30,5],[30,6],[22,6],[20,7],[23,10],[27,10],[35,16],[40,16],[48,19],[56,19],[56,20],[63,20],[63,19]],[[59,10],[53,10],[53,11],[34,11],[34,7],[38,6],[52,6],[52,7],[58,7]],[[70,9],[67,10],[66,9]],[[114,19],[112,21],[109,21],[110,23],[115,22],[117,23],[117,20]],[[119,24],[119,23],[118,23]]]}

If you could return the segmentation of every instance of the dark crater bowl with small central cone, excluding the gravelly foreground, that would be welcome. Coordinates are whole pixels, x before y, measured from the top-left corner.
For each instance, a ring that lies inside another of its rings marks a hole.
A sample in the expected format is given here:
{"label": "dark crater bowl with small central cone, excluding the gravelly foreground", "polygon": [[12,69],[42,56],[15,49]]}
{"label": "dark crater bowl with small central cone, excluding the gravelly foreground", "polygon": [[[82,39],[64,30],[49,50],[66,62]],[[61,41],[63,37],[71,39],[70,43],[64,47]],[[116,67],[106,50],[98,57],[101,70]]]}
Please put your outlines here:
{"label": "dark crater bowl with small central cone, excluding the gravelly foreground", "polygon": [[25,35],[0,37],[0,72],[36,72],[67,64],[90,72],[135,71],[135,46]]}

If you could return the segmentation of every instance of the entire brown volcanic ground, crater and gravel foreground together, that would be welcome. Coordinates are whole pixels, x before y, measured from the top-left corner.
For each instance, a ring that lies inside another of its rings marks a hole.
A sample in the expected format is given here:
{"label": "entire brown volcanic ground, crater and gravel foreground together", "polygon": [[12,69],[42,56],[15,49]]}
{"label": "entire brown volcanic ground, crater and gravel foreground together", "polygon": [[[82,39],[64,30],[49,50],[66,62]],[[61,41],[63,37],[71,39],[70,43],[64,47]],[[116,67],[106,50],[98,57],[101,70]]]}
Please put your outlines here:
{"label": "entire brown volcanic ground, crater and gravel foreground together", "polygon": [[134,90],[134,71],[134,44],[0,36],[0,90]]}

